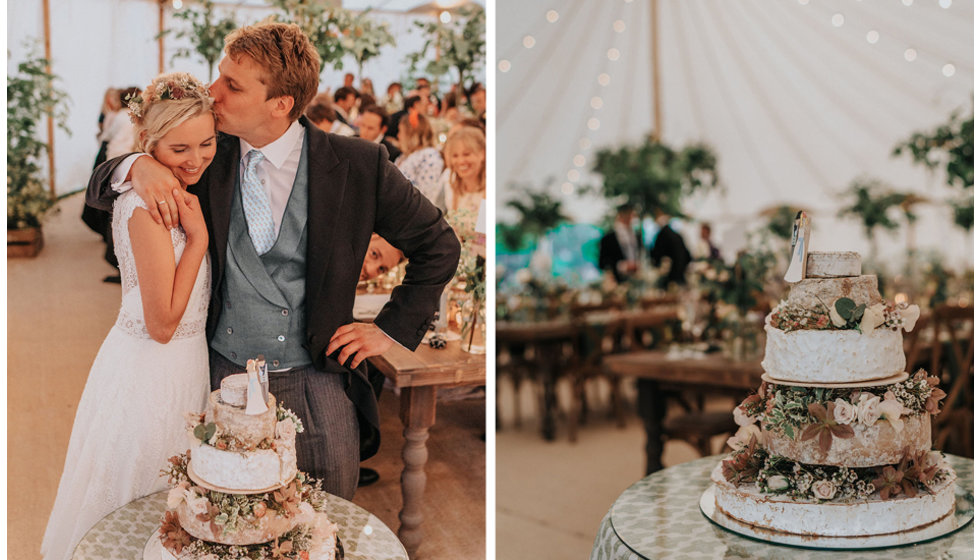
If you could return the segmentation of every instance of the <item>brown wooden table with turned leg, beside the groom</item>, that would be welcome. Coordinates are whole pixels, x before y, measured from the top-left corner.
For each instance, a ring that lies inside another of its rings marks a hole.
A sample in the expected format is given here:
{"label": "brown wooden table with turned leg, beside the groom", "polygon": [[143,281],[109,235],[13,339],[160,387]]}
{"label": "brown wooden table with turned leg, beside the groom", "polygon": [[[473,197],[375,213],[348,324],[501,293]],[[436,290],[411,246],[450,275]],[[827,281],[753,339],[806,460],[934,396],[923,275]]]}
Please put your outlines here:
{"label": "brown wooden table with turned leg, beside the groom", "polygon": [[486,355],[463,351],[459,341],[434,349],[423,343],[414,352],[394,345],[380,356],[368,358],[401,392],[400,417],[404,426],[402,447],[402,509],[398,538],[410,557],[422,543],[422,500],[425,493],[425,464],[429,428],[436,420],[436,389],[485,385]]}

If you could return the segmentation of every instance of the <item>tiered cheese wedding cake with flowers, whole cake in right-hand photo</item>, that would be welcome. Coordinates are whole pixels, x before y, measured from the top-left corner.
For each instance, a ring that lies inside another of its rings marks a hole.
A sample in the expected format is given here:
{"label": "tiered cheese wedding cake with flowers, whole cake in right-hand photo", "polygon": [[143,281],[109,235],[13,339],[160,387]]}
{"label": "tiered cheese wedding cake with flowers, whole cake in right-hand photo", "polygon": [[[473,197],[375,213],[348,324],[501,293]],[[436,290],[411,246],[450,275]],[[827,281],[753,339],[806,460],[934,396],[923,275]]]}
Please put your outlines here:
{"label": "tiered cheese wedding cake with flowers, whole cake in right-hand photo", "polygon": [[955,474],[932,451],[938,379],[905,370],[915,305],[886,304],[857,253],[804,252],[766,318],[765,374],[735,409],[734,451],[712,472],[729,517],[796,535],[858,537],[947,518]]}

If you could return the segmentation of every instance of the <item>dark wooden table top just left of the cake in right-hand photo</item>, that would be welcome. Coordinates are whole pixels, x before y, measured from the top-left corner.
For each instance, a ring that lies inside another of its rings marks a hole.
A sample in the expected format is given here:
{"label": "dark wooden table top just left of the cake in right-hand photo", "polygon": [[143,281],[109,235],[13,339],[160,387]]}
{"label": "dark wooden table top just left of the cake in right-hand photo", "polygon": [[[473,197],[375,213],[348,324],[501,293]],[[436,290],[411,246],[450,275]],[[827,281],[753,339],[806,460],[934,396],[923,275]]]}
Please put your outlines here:
{"label": "dark wooden table top just left of the cake in right-hand photo", "polygon": [[651,350],[607,356],[602,362],[610,372],[626,377],[726,389],[757,389],[763,373],[761,357],[734,360],[720,352],[673,358],[667,352]]}

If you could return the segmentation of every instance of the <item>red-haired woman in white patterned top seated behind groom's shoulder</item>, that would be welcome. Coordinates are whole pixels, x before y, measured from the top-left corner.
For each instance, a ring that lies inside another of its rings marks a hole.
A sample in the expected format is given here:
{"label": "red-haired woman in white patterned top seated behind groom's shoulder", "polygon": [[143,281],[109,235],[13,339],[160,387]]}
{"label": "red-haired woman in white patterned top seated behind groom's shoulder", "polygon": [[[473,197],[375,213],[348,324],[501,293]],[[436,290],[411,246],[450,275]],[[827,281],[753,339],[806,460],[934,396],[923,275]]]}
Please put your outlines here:
{"label": "red-haired woman in white patterned top seated behind groom's shoulder", "polygon": [[435,133],[428,117],[409,111],[398,127],[398,147],[402,155],[395,165],[430,202],[439,196],[439,175],[444,167],[436,149]]}

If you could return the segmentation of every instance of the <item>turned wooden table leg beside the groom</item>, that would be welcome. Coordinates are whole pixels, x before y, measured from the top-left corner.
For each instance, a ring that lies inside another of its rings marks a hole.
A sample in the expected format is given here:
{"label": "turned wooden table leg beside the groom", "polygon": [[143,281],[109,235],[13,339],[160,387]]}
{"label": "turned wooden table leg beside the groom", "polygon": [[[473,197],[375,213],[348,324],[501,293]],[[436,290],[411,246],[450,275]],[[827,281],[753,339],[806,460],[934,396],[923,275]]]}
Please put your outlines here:
{"label": "turned wooden table leg beside the groom", "polygon": [[398,538],[405,550],[415,557],[422,544],[422,495],[425,493],[425,463],[429,451],[425,447],[429,428],[436,421],[436,388],[403,387],[401,419],[405,426],[405,446],[402,448],[402,511],[398,514],[401,526]]}

